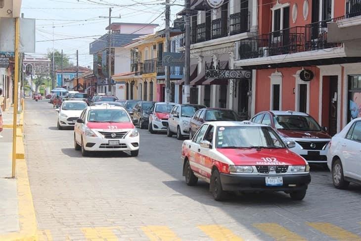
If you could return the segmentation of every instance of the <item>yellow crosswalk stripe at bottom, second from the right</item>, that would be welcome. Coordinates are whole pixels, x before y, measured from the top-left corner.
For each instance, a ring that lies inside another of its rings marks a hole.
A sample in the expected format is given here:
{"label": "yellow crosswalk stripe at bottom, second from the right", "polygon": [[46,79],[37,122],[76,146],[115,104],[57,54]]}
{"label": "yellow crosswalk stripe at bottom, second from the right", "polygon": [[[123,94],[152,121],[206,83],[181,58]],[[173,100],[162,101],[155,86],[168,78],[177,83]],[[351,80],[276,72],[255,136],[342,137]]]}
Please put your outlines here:
{"label": "yellow crosswalk stripe at bottom, second from the right", "polygon": [[257,223],[253,226],[271,236],[276,241],[306,241],[305,238],[276,223]]}

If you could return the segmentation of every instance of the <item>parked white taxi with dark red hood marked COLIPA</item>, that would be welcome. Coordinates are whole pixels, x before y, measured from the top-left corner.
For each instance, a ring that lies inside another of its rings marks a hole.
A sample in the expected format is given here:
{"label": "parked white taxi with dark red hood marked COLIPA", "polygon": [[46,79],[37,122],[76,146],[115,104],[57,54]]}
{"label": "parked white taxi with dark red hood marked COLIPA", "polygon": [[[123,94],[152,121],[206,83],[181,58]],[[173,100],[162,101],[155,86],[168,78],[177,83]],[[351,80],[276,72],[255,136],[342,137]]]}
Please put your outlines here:
{"label": "parked white taxi with dark red hood marked COLIPA", "polygon": [[272,110],[256,114],[252,122],[271,126],[285,143],[296,142],[291,150],[309,163],[327,162],[331,137],[326,132],[327,128],[321,128],[312,116],[303,112]]}

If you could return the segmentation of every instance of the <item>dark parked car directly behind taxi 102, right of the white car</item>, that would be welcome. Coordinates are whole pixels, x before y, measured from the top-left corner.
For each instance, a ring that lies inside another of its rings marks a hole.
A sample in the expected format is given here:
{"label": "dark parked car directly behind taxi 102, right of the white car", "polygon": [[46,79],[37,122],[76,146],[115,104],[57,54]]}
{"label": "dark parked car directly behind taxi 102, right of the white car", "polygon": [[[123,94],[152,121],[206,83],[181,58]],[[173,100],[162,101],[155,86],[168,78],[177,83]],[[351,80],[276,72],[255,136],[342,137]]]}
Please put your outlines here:
{"label": "dark parked car directly behind taxi 102, right of the white car", "polygon": [[194,113],[189,122],[189,139],[192,139],[198,129],[210,121],[239,121],[236,112],[222,108],[203,108]]}

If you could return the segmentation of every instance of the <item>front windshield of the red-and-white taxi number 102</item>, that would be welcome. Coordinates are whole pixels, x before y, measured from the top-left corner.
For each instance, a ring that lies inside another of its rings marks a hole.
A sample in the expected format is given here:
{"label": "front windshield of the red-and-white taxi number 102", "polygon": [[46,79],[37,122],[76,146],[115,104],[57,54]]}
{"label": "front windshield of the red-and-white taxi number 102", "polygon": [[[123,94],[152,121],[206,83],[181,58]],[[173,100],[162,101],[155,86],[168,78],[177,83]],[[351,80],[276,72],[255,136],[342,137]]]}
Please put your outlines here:
{"label": "front windshield of the red-and-white taxi number 102", "polygon": [[217,130],[218,148],[285,148],[268,126],[225,126]]}

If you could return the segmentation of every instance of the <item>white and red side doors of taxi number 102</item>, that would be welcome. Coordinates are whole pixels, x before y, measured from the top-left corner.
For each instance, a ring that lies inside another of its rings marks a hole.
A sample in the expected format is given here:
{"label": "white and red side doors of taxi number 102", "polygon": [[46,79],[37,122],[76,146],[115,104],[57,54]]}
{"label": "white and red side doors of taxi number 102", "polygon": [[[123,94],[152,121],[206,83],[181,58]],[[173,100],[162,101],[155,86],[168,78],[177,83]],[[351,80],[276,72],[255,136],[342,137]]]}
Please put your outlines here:
{"label": "white and red side doors of taxi number 102", "polygon": [[[190,149],[190,167],[192,170],[204,177],[207,177],[207,172],[204,168],[204,155],[202,154],[202,147],[200,145],[203,137],[207,132],[208,124],[203,125],[194,136],[191,144],[188,146]],[[204,152],[204,150],[203,150]]]}

